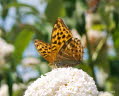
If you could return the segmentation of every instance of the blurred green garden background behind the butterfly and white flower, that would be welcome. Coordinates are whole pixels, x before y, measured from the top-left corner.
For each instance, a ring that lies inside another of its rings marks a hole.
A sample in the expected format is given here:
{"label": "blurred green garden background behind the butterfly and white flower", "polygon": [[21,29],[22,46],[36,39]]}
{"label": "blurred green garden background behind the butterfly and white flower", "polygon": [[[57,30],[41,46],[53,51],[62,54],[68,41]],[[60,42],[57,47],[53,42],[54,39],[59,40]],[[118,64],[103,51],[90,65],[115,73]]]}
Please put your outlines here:
{"label": "blurred green garden background behind the butterfly and white flower", "polygon": [[119,0],[0,0],[0,96],[23,96],[51,71],[34,40],[49,43],[58,17],[85,47],[76,67],[119,96]]}

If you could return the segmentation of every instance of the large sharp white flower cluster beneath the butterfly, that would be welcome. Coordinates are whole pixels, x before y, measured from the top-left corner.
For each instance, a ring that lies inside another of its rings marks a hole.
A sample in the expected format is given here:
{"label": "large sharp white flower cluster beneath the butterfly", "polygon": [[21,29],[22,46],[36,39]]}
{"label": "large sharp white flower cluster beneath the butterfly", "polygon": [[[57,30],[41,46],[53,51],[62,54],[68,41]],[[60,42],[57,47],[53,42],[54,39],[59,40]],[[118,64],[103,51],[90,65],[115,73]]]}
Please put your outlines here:
{"label": "large sharp white flower cluster beneath the butterfly", "polygon": [[32,83],[24,96],[97,96],[95,82],[83,70],[57,68]]}

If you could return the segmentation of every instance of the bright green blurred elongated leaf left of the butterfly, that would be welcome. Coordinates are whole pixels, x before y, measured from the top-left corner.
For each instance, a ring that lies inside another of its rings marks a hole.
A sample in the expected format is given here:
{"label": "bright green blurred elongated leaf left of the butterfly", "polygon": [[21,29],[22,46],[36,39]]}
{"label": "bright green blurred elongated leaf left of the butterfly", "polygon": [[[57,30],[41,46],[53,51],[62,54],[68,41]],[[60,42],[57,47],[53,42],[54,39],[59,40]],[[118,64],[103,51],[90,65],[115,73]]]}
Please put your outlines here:
{"label": "bright green blurred elongated leaf left of the butterfly", "polygon": [[16,62],[19,62],[19,60],[22,58],[22,54],[25,48],[30,43],[32,36],[33,36],[33,31],[28,29],[24,29],[17,36],[15,40],[15,44],[14,44],[15,45],[14,56],[15,56]]}

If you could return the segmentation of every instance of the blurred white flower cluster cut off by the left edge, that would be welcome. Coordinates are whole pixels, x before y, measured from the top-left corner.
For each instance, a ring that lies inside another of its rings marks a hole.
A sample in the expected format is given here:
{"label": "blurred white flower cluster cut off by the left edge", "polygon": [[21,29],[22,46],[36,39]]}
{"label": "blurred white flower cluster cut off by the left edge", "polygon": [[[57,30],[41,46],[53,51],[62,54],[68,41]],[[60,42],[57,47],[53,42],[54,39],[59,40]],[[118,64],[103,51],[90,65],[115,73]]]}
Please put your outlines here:
{"label": "blurred white flower cluster cut off by the left edge", "polygon": [[14,46],[8,44],[5,40],[0,38],[0,64],[5,63],[5,57],[14,51]]}

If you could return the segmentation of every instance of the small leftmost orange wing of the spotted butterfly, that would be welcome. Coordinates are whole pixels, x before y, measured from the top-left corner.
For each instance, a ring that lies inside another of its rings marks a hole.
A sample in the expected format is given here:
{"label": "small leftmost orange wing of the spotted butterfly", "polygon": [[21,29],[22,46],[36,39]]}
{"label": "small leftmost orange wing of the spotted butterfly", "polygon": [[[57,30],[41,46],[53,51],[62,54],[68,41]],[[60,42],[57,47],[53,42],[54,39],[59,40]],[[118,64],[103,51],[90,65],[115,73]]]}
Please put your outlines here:
{"label": "small leftmost orange wing of the spotted butterfly", "polygon": [[51,45],[41,40],[35,40],[35,46],[38,52],[48,61],[52,62]]}

